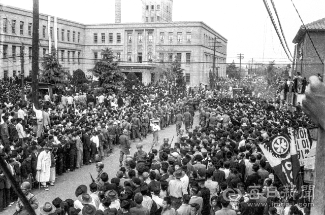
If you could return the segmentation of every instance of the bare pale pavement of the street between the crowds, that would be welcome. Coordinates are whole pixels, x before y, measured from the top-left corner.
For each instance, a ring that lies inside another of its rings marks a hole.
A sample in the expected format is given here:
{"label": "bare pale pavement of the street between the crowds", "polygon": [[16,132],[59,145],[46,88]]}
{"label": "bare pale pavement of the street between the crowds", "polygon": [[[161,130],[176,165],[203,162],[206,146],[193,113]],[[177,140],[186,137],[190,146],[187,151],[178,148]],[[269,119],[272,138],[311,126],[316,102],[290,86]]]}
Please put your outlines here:
{"label": "bare pale pavement of the street between the crowds", "polygon": [[[194,116],[194,123],[193,128],[195,125],[199,124],[199,112],[196,112],[196,116]],[[184,124],[182,125],[184,128]],[[184,128],[185,130],[185,128]],[[192,131],[193,129],[190,129]],[[170,140],[175,135],[173,143],[176,141],[176,127],[175,125],[171,125],[169,128],[165,128],[164,130],[159,131],[159,144],[155,145],[153,149],[159,149],[160,144],[163,142],[164,137],[168,137]],[[152,134],[148,135],[143,142],[143,150],[148,152],[150,147],[152,146]],[[137,151],[136,144],[139,143],[139,139],[136,142],[131,142],[131,155]],[[113,153],[111,153],[110,157],[106,157],[103,161],[104,163],[104,172],[107,172],[109,175],[109,181],[111,178],[116,177],[116,172],[119,170],[119,162],[118,158],[120,155],[120,151],[118,146],[114,146]],[[124,157],[125,160],[125,157]],[[40,205],[43,205],[44,202],[52,200],[56,197],[60,197],[63,201],[71,198],[76,200],[75,190],[79,185],[86,185],[89,191],[89,184],[91,183],[91,178],[89,173],[92,175],[93,178],[96,178],[97,173],[95,169],[95,163],[92,163],[89,166],[83,166],[80,170],[75,170],[74,172],[64,173],[63,176],[57,176],[57,180],[55,181],[55,186],[49,186],[49,191],[45,191],[44,189],[34,189],[31,193],[35,194],[36,197],[39,199]],[[16,203],[15,203],[16,204]],[[14,206],[4,210],[4,214],[13,214],[14,213]],[[37,209],[37,214],[39,214],[39,208]]]}

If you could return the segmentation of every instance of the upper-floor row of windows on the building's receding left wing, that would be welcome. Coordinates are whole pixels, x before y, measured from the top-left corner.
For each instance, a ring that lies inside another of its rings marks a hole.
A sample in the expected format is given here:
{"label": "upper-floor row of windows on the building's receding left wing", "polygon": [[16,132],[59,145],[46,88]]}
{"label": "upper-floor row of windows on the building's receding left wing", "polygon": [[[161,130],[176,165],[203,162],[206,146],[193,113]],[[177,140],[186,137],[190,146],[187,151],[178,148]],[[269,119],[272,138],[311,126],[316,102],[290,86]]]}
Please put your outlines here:
{"label": "upper-floor row of windows on the building's receding left wing", "polygon": [[[57,28],[57,39],[59,39],[59,29]],[[3,18],[3,32],[8,33],[8,20],[7,18]],[[11,20],[11,33],[16,33],[16,20]],[[19,22],[19,34],[24,35],[24,22]],[[32,23],[28,22],[28,36],[32,36]],[[50,37],[53,40],[53,27],[50,27]],[[46,25],[42,26],[42,38],[46,38]],[[64,29],[61,29],[61,41],[64,41]],[[71,42],[71,31],[67,30],[67,41]],[[80,43],[80,32],[77,32],[76,38],[76,31],[72,31],[72,42]]]}

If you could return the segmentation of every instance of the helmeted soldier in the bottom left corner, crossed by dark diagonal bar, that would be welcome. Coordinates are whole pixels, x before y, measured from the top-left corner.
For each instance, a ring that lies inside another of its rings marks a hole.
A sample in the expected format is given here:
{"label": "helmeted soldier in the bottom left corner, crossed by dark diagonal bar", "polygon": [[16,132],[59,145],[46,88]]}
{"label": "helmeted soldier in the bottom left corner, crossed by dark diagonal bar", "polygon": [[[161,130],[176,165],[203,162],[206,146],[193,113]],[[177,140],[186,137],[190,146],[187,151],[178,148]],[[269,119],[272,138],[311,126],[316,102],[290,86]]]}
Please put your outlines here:
{"label": "helmeted soldier in the bottom left corner, crossed by dark diagonal bar", "polygon": [[[39,207],[39,200],[36,196],[29,191],[31,190],[31,185],[29,182],[23,182],[20,185],[22,193],[25,195],[27,201],[29,202],[32,209],[36,210]],[[24,207],[20,198],[18,198],[18,202],[16,204],[16,213],[17,214],[29,214],[26,208]],[[16,214],[15,213],[15,214]]]}

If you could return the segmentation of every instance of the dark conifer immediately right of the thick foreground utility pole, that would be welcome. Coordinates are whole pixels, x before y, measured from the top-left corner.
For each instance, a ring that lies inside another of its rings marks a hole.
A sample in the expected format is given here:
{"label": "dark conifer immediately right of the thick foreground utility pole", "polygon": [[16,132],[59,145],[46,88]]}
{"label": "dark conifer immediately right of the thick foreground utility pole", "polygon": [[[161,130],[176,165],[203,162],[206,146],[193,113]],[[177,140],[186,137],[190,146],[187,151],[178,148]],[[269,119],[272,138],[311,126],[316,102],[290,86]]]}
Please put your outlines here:
{"label": "dark conifer immediately right of the thick foreground utility pole", "polygon": [[63,69],[57,58],[57,50],[52,47],[51,54],[46,55],[42,59],[42,75],[40,75],[40,81],[56,86],[66,86],[68,81],[66,80],[68,72]]}

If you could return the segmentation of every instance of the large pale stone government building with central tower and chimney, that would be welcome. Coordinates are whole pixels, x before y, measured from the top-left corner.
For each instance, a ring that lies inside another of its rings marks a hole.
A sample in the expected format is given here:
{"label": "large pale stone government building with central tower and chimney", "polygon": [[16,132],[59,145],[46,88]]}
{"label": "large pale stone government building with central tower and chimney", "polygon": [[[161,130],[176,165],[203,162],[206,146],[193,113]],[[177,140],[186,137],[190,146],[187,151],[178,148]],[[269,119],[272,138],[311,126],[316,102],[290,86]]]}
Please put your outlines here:
{"label": "large pale stone government building with central tower and chimney", "polygon": [[[153,3],[154,2],[154,3]],[[76,69],[93,67],[101,59],[102,49],[111,48],[123,72],[133,71],[148,84],[156,61],[182,62],[186,84],[209,83],[212,70],[213,38],[218,38],[216,67],[225,78],[227,40],[202,21],[172,22],[172,0],[143,0],[142,22],[120,23],[120,0],[116,0],[115,23],[82,24],[40,13],[40,62],[58,50],[59,62],[71,74]],[[152,5],[154,4],[154,5]],[[25,76],[31,73],[32,11],[1,5],[0,78],[18,75],[20,48],[24,43]],[[203,62],[203,63],[200,63]]]}

